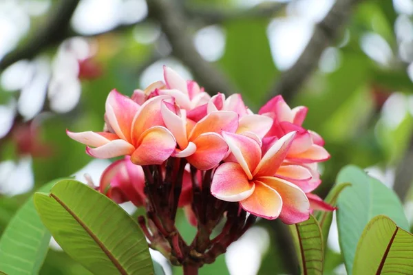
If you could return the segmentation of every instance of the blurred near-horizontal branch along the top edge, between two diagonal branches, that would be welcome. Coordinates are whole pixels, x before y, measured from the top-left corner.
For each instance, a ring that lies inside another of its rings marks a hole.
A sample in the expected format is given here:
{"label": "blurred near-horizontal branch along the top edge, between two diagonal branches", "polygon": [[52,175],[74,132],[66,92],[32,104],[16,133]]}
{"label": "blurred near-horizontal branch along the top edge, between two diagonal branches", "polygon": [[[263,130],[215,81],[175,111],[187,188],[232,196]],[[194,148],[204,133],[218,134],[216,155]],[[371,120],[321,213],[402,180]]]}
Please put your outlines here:
{"label": "blurred near-horizontal branch along the top edge, between two diagonal branches", "polygon": [[191,19],[201,19],[206,24],[218,24],[234,19],[260,19],[272,17],[285,8],[287,3],[262,3],[248,10],[218,10],[187,8],[187,14]]}

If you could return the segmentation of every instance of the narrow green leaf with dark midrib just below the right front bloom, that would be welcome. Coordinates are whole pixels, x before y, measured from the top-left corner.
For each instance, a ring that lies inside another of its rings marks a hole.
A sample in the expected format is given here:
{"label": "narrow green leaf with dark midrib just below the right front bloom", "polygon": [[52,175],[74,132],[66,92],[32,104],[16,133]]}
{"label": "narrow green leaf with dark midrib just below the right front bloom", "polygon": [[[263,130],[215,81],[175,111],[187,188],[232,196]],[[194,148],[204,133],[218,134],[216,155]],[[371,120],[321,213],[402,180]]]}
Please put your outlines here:
{"label": "narrow green leaf with dark midrib just below the right front bloom", "polygon": [[317,219],[310,215],[307,221],[290,225],[290,231],[295,236],[301,274],[323,274],[324,244]]}

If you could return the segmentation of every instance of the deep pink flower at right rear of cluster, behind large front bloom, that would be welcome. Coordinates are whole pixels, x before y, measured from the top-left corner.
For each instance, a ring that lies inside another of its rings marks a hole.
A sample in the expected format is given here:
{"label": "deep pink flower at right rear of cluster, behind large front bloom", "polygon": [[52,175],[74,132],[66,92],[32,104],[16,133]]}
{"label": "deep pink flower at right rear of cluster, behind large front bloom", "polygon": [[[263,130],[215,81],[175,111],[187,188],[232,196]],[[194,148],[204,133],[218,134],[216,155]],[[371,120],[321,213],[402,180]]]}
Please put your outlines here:
{"label": "deep pink flower at right rear of cluster, behind large front bloom", "polygon": [[288,151],[287,159],[294,162],[324,162],[330,155],[323,147],[324,140],[313,131],[302,128],[306,118],[307,107],[295,107],[290,109],[282,96],[268,101],[258,113],[273,118],[273,126],[266,133],[267,137],[282,137],[286,133],[297,131],[297,137]]}

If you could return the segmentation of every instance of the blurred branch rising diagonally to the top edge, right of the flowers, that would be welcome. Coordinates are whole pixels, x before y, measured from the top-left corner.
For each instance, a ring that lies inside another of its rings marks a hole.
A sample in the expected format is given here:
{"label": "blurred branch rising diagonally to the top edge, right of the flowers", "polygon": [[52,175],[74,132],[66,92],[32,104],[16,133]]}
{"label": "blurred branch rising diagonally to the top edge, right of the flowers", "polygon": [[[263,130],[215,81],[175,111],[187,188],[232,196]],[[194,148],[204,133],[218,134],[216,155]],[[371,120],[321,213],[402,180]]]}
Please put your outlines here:
{"label": "blurred branch rising diagonally to the top edge, right of the flowers", "polygon": [[332,44],[350,17],[352,6],[361,0],[337,0],[323,21],[315,25],[313,36],[297,62],[277,81],[270,96],[281,94],[286,101],[298,94],[299,88],[317,68],[319,58]]}

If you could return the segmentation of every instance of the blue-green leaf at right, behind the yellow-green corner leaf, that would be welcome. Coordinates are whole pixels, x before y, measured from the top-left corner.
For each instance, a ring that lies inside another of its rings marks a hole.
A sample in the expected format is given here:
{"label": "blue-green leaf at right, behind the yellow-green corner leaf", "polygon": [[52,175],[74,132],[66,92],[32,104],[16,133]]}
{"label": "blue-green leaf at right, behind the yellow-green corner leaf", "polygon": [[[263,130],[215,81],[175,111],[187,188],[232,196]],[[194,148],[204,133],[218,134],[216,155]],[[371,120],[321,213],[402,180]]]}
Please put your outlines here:
{"label": "blue-green leaf at right, behind the yellow-green corner leaf", "polygon": [[339,173],[337,182],[352,184],[341,192],[337,200],[339,243],[346,270],[351,274],[357,241],[370,219],[385,214],[406,230],[409,223],[396,194],[379,180],[369,177],[361,168],[346,166]]}

